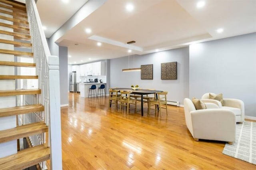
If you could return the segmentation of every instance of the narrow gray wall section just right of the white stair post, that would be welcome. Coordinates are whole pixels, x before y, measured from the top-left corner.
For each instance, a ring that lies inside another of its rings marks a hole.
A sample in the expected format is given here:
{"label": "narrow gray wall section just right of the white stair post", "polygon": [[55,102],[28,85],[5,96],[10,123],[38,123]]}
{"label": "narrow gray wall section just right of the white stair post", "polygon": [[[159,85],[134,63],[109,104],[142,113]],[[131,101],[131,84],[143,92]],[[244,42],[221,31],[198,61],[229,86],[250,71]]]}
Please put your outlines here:
{"label": "narrow gray wall section just right of the white stair post", "polygon": [[60,105],[68,104],[68,47],[59,46]]}

